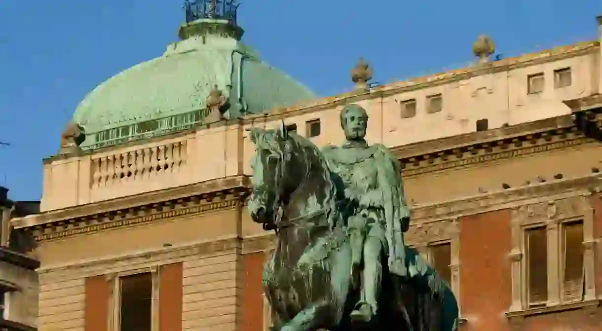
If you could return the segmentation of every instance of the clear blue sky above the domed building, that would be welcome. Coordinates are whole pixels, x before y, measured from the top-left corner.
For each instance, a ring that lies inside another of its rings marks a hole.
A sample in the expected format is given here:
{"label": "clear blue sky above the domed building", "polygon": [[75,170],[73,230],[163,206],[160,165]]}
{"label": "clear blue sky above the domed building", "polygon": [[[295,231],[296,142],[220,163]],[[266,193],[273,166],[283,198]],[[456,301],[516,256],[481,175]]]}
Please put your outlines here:
{"label": "clear blue sky above the domed building", "polygon": [[[0,185],[40,199],[42,158],[79,101],[123,69],[160,56],[181,0],[0,0]],[[370,4],[372,3],[372,4]],[[459,67],[478,34],[518,55],[597,36],[601,0],[243,0],[247,45],[323,96],[352,86],[363,56],[374,81]]]}

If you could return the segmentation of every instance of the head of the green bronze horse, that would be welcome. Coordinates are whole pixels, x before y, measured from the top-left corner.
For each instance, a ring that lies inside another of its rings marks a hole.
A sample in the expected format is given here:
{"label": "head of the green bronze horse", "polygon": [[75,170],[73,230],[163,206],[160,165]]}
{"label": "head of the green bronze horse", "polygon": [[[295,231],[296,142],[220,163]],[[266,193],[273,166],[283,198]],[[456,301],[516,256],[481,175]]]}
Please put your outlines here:
{"label": "head of the green bronze horse", "polygon": [[299,174],[307,166],[305,158],[284,123],[276,130],[253,128],[249,138],[256,152],[251,161],[253,191],[248,208],[253,221],[264,224],[265,230],[276,229],[278,213],[303,180]]}

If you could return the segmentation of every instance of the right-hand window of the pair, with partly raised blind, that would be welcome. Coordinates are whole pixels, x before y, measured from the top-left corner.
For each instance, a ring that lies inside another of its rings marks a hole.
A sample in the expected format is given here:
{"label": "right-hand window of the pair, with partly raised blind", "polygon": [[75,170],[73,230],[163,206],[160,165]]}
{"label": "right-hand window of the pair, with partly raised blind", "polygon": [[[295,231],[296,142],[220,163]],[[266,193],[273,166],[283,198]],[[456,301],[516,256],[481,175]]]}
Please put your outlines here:
{"label": "right-hand window of the pair, with partly raised blind", "polygon": [[562,302],[583,300],[583,221],[562,224]]}

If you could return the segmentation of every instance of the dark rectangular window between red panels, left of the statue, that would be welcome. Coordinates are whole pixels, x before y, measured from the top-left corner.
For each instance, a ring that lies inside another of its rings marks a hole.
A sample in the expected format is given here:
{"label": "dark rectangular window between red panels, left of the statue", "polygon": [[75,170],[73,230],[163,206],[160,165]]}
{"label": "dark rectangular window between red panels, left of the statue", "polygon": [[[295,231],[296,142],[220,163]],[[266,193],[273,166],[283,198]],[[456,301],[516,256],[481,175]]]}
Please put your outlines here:
{"label": "dark rectangular window between red panels, left of the statue", "polygon": [[120,277],[121,331],[151,331],[152,274],[140,273]]}

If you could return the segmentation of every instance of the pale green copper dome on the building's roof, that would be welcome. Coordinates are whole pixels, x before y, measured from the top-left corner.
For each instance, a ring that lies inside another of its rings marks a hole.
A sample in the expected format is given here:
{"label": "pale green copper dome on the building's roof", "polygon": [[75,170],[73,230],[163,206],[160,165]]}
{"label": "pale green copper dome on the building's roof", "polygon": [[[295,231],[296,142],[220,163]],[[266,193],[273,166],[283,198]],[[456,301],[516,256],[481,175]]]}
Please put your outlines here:
{"label": "pale green copper dome on the building's roof", "polygon": [[185,39],[170,45],[162,57],[113,76],[85,96],[73,116],[86,132],[81,147],[93,149],[201,123],[208,113],[205,99],[214,85],[229,97],[231,107],[225,116],[230,118],[315,97],[238,41],[240,28],[233,35],[209,32],[205,26],[223,30],[220,23],[229,26],[215,19],[183,25]]}

